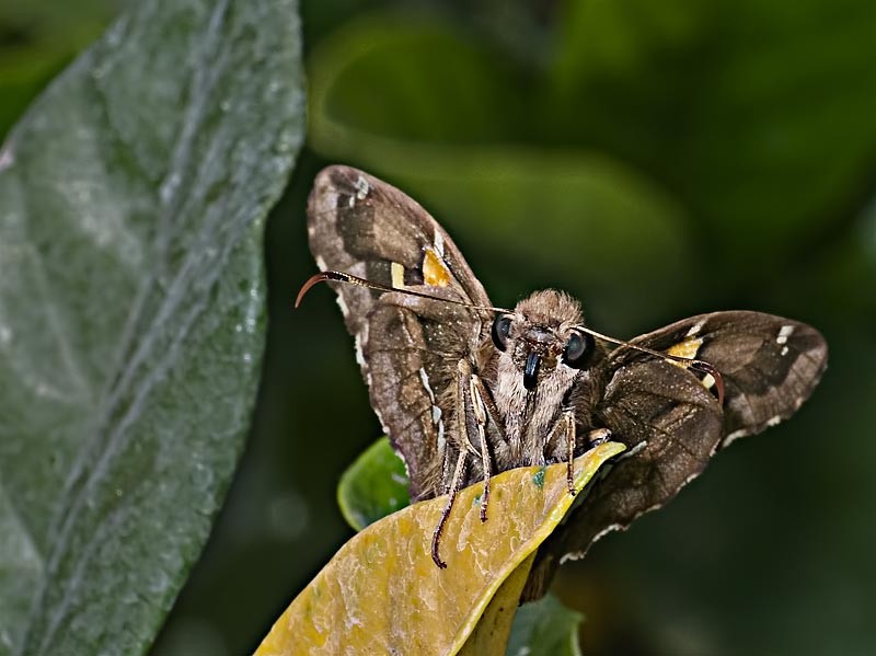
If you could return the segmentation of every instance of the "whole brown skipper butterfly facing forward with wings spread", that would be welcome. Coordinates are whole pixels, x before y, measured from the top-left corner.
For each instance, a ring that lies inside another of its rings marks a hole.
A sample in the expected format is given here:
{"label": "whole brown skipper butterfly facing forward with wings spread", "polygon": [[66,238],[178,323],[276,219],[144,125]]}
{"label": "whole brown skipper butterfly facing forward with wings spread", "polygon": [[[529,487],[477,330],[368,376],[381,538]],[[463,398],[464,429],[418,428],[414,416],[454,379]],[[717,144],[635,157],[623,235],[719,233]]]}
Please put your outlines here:
{"label": "whole brown skipper butterfly facing forward with wings spread", "polygon": [[[553,289],[492,304],[443,228],[415,200],[348,166],[315,179],[310,248],[373,406],[405,462],[412,500],[453,498],[517,467],[566,462],[607,439],[626,453],[540,550],[530,596],[562,555],[657,508],[715,451],[791,416],[827,366],[814,327],[747,311],[683,319],[629,342],[593,331]],[[615,347],[610,347],[614,344]],[[570,488],[570,493],[574,491]]]}

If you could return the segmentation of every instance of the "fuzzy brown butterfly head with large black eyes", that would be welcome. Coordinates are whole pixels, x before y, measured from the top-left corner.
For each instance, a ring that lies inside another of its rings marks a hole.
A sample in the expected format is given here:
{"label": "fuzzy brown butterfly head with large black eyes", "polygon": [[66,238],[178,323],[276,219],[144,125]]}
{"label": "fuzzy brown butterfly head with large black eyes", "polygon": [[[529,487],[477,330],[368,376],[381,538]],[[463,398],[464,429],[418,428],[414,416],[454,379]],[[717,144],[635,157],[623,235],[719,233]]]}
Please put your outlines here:
{"label": "fuzzy brown butterfly head with large black eyes", "polygon": [[493,321],[499,368],[522,377],[528,391],[545,380],[565,387],[596,353],[593,337],[580,330],[583,321],[580,304],[570,296],[553,289],[534,292]]}

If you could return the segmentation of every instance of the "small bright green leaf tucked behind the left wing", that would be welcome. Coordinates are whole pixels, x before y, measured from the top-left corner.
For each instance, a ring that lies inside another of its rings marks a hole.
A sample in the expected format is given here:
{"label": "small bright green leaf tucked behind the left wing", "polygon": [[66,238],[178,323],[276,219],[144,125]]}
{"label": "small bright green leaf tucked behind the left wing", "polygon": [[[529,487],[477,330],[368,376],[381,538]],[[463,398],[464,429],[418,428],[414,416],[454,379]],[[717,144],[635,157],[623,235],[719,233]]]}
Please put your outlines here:
{"label": "small bright green leaf tucked behind the left wing", "polygon": [[404,462],[392,450],[390,440],[381,437],[341,476],[337,505],[347,523],[360,531],[407,506],[407,484]]}

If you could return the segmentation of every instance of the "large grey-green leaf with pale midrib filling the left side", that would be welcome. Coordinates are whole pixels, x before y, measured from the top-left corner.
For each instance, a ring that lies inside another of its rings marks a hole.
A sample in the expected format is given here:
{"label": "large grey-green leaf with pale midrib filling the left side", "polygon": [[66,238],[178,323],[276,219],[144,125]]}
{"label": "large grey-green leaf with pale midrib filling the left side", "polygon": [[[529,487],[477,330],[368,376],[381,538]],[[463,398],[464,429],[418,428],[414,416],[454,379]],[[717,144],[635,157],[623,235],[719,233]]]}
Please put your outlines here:
{"label": "large grey-green leaf with pale midrib filling the left side", "polygon": [[0,654],[138,654],[209,533],[302,140],[297,5],[135,3],[0,151]]}

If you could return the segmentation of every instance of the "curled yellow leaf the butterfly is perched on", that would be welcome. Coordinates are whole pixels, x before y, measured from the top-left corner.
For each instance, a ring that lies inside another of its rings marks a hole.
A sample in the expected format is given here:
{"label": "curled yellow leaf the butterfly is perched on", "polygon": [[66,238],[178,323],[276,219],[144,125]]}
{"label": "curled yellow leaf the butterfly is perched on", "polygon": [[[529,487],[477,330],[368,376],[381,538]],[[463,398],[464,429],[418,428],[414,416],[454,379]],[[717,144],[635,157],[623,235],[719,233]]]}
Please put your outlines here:
{"label": "curled yellow leaf the butterfly is perched on", "polygon": [[[608,442],[577,458],[576,490],[623,449],[619,442]],[[441,540],[446,569],[439,569],[430,555],[433,530],[446,497],[408,506],[344,544],[280,615],[256,656],[459,653],[493,596],[522,563],[506,587],[514,594],[509,603],[516,607],[531,565],[529,556],[574,500],[565,464],[520,468],[495,476],[489,519],[484,523],[477,509],[481,492],[481,485],[472,485],[457,498]],[[499,607],[503,610],[494,615]],[[505,618],[514,615],[499,607],[488,613],[496,641],[507,640]]]}

